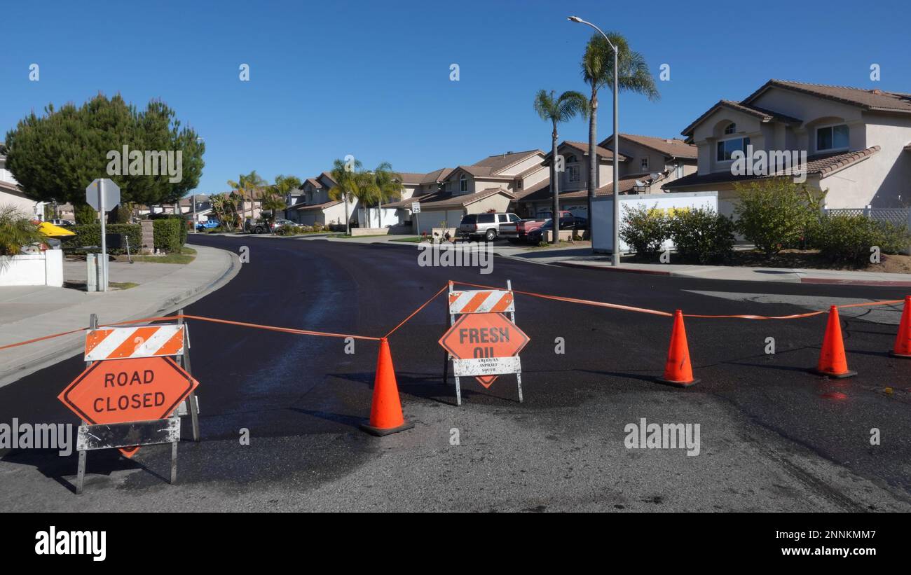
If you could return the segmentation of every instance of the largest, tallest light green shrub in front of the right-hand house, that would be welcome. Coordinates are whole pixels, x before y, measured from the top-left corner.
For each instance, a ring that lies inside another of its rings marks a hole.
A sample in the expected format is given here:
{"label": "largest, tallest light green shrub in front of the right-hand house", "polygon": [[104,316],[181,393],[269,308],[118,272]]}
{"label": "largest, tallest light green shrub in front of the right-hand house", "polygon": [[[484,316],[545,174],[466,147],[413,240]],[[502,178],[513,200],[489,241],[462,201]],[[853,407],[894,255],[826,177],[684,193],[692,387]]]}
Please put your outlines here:
{"label": "largest, tallest light green shrub in front of the right-hand house", "polygon": [[818,221],[824,193],[787,177],[735,184],[740,203],[736,229],[766,257],[784,247],[797,247]]}

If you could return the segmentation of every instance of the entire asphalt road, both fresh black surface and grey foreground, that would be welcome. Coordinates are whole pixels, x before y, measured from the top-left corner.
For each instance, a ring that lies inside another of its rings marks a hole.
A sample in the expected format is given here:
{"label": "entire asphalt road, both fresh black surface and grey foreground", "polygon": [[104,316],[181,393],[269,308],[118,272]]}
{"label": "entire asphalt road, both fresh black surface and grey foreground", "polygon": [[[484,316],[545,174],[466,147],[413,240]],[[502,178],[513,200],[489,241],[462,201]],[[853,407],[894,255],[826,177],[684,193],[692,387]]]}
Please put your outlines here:
{"label": "entire asphalt road, both fresh black surface and grey foreground", "polygon": [[[785,315],[830,302],[896,299],[901,288],[723,282],[544,266],[497,257],[493,273],[419,267],[415,246],[272,237],[191,237],[250,249],[228,286],[187,313],[382,336],[446,280],[695,314]],[[701,293],[695,293],[701,292]],[[723,292],[721,295],[718,292]],[[404,415],[377,439],[367,418],[376,344],[190,321],[200,443],[88,458],[19,450],[0,459],[3,510],[911,510],[911,361],[889,358],[896,310],[843,318],[856,378],[806,372],[825,318],[687,320],[701,382],[654,383],[670,319],[517,297],[525,402],[515,379],[441,382],[444,298],[390,338]],[[764,349],[775,339],[776,353]],[[565,353],[556,353],[564,338]],[[56,400],[82,370],[70,358],[0,388],[0,422],[75,422]],[[625,428],[700,424],[701,449],[627,449]],[[871,429],[881,444],[871,445]],[[241,445],[241,429],[250,445]],[[457,434],[457,445],[453,445]],[[185,433],[186,437],[186,433]]]}

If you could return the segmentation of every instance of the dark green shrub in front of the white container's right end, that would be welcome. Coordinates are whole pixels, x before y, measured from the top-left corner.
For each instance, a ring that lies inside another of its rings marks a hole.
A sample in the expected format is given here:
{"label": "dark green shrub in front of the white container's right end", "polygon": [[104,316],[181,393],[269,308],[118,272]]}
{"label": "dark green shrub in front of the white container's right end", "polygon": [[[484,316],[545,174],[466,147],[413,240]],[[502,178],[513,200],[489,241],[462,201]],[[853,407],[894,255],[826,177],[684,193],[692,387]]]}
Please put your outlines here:
{"label": "dark green shrub in front of the white container's right end", "polygon": [[677,253],[686,260],[708,264],[724,261],[733,253],[733,220],[711,208],[676,211],[668,227]]}

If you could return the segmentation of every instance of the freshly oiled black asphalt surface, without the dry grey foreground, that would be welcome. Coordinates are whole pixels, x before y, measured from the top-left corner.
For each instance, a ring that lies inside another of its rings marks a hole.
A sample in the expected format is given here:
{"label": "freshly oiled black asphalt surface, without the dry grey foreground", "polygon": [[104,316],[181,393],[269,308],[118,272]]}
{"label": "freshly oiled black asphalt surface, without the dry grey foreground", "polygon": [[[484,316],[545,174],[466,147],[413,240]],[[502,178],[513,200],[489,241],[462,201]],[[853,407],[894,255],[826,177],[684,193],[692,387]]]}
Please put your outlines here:
{"label": "freshly oiled black asphalt surface, without the dry grey foreground", "polygon": [[[665,311],[681,308],[693,314],[786,315],[805,309],[711,298],[690,290],[810,296],[818,298],[819,309],[827,307],[827,298],[898,299],[906,295],[901,287],[699,280],[537,265],[505,257],[496,257],[493,273],[482,275],[470,267],[420,267],[411,244],[204,236],[193,236],[190,242],[234,252],[248,247],[249,263],[243,264],[240,274],[226,287],[189,306],[187,314],[374,337],[383,336],[449,279],[491,286],[505,286],[511,279],[518,290]],[[250,501],[246,507],[238,504],[230,509],[271,509],[269,502],[278,499],[256,496],[265,486],[319,489],[342,480],[354,469],[366,469],[384,451],[393,449],[390,446],[407,460],[409,442],[434,426],[440,428],[434,433],[441,438],[439,446],[444,446],[438,449],[445,449],[448,421],[460,413],[476,418],[503,414],[520,423],[538,419],[537,425],[556,420],[555,425],[570,435],[610,429],[620,438],[622,449],[624,426],[646,417],[647,409],[642,406],[663,405],[668,410],[662,411],[666,415],[662,420],[675,422],[698,422],[699,409],[705,406],[708,412],[711,406],[724,410],[725,418],[740,421],[742,429],[736,433],[731,430],[732,445],[750,442],[751,437],[773,438],[769,440],[779,447],[811,454],[834,469],[849,470],[857,478],[887,489],[900,504],[906,505],[909,500],[911,360],[886,354],[892,347],[896,325],[843,318],[849,366],[859,375],[836,380],[806,372],[819,354],[824,316],[768,321],[690,318],[687,336],[695,376],[701,382],[679,389],[652,380],[660,376],[664,365],[670,318],[521,295],[517,296],[516,315],[517,325],[531,338],[522,353],[525,403],[521,405],[517,404],[515,379],[504,376],[489,389],[464,378],[464,405],[455,407],[451,380],[449,385],[441,382],[443,351],[437,344],[445,331],[445,298],[437,298],[396,331],[390,344],[405,417],[419,409],[442,415],[385,439],[366,436],[357,428],[370,410],[375,342],[358,340],[355,353],[346,354],[345,342],[339,338],[190,320],[193,374],[200,380],[203,442],[181,443],[179,483],[205,486],[217,482],[220,492]],[[775,339],[774,355],[764,353],[769,337]],[[565,353],[555,353],[556,338],[565,340]],[[17,418],[76,423],[56,395],[83,368],[80,357],[69,358],[0,388],[0,421]],[[674,419],[678,409],[674,406],[680,405],[686,409]],[[593,413],[596,407],[600,411]],[[612,409],[616,411],[609,414]],[[706,415],[706,420],[713,417]],[[870,444],[873,428],[880,429],[881,445]],[[241,429],[249,430],[250,447],[238,445]],[[702,440],[708,442],[710,433],[725,432],[703,427]],[[408,434],[412,434],[410,439]],[[559,436],[555,432],[542,437],[559,442]],[[480,445],[491,442],[502,447],[499,443],[513,440],[484,438]],[[478,449],[483,459],[484,449]],[[756,449],[770,460],[783,460],[765,445]],[[160,489],[167,456],[158,448],[140,452],[136,461],[119,459],[113,451],[93,452],[89,472],[96,475],[89,477],[87,491],[94,481],[97,493],[116,490],[118,498],[124,500],[149,489],[164,497]],[[475,460],[463,463],[470,466]],[[19,474],[36,469],[54,483],[41,493],[41,503],[23,502],[22,496],[17,496],[15,504],[0,500],[0,509],[57,509],[56,500],[66,500],[67,509],[80,509],[79,503],[70,502],[68,479],[63,479],[75,472],[75,456],[60,458],[50,452],[20,450],[3,457],[0,465],[7,464],[15,466],[16,475],[7,479],[0,475],[0,482],[22,481],[26,476]],[[138,472],[112,479],[123,469]],[[497,466],[486,469],[496,474]],[[789,473],[801,485],[816,489],[821,498],[834,502],[836,509],[875,507],[865,507],[850,494],[824,484],[812,471],[795,469]],[[382,481],[376,474],[370,477]],[[440,489],[445,490],[449,479],[431,480],[439,481]],[[711,478],[705,480],[711,483]],[[749,485],[749,478],[742,481],[739,497],[748,499],[756,486]],[[714,488],[720,492],[722,486]],[[46,492],[48,489],[52,492]],[[508,486],[502,489],[506,495],[501,499],[509,494]],[[333,509],[346,509],[344,495],[338,497]],[[369,494],[360,497],[371,500]],[[616,497],[622,499],[622,489]],[[517,499],[510,509],[525,509],[525,502],[531,498],[522,495]],[[459,500],[455,496],[422,506],[417,498],[390,505],[394,509],[453,509]],[[201,505],[198,498],[188,501],[192,501],[188,503],[191,507]],[[584,503],[577,503],[567,508],[586,509]],[[135,507],[144,509],[139,504]],[[214,502],[211,507],[221,509]],[[624,505],[612,507],[623,509]],[[104,509],[104,505],[98,503],[98,508]],[[749,505],[742,509],[749,509]]]}

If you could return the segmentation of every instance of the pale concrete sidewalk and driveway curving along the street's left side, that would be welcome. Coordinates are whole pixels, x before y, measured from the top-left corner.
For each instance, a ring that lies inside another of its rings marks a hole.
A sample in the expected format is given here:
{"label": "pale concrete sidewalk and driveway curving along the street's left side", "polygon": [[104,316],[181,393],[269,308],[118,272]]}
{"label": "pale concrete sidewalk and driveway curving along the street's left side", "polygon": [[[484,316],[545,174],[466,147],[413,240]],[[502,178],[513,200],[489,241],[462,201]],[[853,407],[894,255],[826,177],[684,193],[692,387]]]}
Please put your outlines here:
{"label": "pale concrete sidewalk and driveway curving along the street's left side", "polygon": [[[0,287],[0,347],[85,328],[93,313],[102,324],[167,314],[222,287],[240,271],[236,254],[193,248],[197,256],[187,265],[110,262],[111,281],[138,284],[129,289],[87,293],[67,287]],[[85,266],[68,262],[67,281],[85,282]],[[0,387],[75,355],[84,341],[85,335],[76,333],[0,350]]]}

